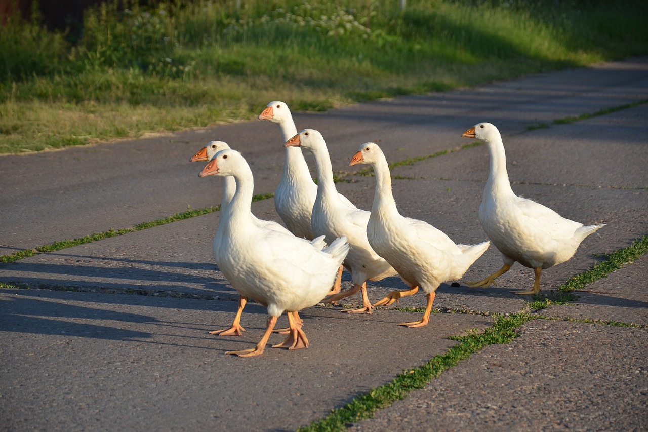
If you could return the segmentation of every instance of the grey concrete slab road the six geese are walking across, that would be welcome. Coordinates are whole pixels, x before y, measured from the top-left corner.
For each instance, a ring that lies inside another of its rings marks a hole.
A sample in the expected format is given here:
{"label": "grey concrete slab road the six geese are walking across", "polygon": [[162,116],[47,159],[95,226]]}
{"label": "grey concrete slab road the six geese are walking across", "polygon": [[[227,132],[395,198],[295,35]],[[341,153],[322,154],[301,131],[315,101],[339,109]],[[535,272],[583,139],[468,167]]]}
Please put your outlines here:
{"label": "grey concrete slab road the six geese are walking across", "polygon": [[[350,180],[338,189],[366,209],[375,179],[353,174],[363,166],[347,167],[360,143],[379,141],[393,162],[456,149],[470,143],[460,138],[470,126],[496,124],[516,193],[571,219],[608,224],[570,261],[543,272],[548,291],[648,234],[648,104],[569,125],[526,126],[645,99],[648,58],[640,58],[294,117],[297,128],[323,132],[334,169]],[[244,152],[256,193],[273,191],[283,149],[279,131],[264,121],[0,157],[0,254],[218,204],[222,180],[199,179],[203,165],[188,162],[210,139]],[[407,178],[393,184],[400,211],[457,243],[483,241],[477,211],[488,166],[481,145],[397,167],[393,174]],[[253,211],[278,220],[272,200]],[[2,265],[1,283],[34,289],[0,290],[0,429],[294,430],[442,354],[455,343],[448,336],[489,326],[492,313],[527,309],[529,299],[509,291],[527,289],[533,272],[516,265],[489,289],[442,284],[439,313],[424,328],[395,325],[417,312],[349,317],[341,307],[318,306],[302,314],[308,350],[222,355],[255,344],[266,315],[249,304],[244,336],[207,334],[228,326],[236,309],[237,294],[211,255],[217,225],[211,213]],[[528,322],[512,344],[485,348],[352,427],[647,429],[646,328],[564,320],[648,325],[646,262],[588,285],[573,304],[540,311],[555,319]],[[491,247],[463,280],[501,263]],[[345,273],[343,286],[350,285]],[[402,287],[387,278],[370,283],[369,296]],[[399,306],[422,307],[424,298]]]}

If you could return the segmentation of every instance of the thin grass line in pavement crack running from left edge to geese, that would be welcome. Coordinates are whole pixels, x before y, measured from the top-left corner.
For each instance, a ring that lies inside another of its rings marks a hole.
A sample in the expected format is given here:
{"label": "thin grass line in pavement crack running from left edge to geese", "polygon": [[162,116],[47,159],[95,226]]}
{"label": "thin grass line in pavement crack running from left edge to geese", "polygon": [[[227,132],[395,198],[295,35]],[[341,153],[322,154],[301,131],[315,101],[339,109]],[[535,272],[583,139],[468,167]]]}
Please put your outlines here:
{"label": "thin grass line in pavement crack running from left edge to geese", "polygon": [[[264,195],[255,195],[254,197],[252,197],[252,202],[261,201],[272,197],[274,197],[272,193],[266,193]],[[137,224],[130,228],[122,228],[121,230],[113,230],[111,228],[108,231],[97,232],[90,235],[84,235],[83,237],[79,237],[78,239],[60,240],[60,241],[55,241],[54,243],[50,243],[49,245],[38,246],[37,248],[34,249],[19,250],[18,252],[14,252],[13,254],[10,255],[0,256],[0,263],[12,263],[19,259],[27,258],[41,253],[55,252],[56,250],[70,248],[72,246],[84,245],[86,243],[92,243],[93,241],[108,239],[110,237],[117,237],[118,235],[124,235],[130,232],[141,231],[141,230],[145,230],[146,228],[153,228],[154,226],[170,224],[171,222],[182,221],[183,219],[190,219],[192,217],[206,215],[207,213],[213,213],[214,211],[218,211],[218,210],[220,210],[220,206],[205,207],[198,210],[192,210],[191,208],[187,208],[187,211],[183,211],[182,213],[176,213],[170,217],[163,217],[161,219],[157,219],[156,221],[142,222],[141,224]]]}

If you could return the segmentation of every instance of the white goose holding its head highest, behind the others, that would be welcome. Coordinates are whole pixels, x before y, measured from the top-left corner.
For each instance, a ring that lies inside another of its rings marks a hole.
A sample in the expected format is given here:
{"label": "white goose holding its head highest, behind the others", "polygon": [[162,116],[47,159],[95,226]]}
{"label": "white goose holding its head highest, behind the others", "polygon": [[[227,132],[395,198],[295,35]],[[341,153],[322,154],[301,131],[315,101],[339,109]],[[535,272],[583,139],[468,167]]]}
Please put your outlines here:
{"label": "white goose holding its head highest, behind the others", "polygon": [[[285,102],[270,102],[257,118],[271,121],[279,126],[282,143],[297,134],[295,121]],[[299,147],[285,147],[284,154],[283,174],[275,191],[275,209],[292,234],[312,239],[315,235],[310,217],[318,194],[318,187],[310,176],[310,170]],[[340,200],[355,207],[343,195],[340,195]],[[340,292],[341,276],[342,267],[338,270],[338,278],[331,289],[331,294]]]}

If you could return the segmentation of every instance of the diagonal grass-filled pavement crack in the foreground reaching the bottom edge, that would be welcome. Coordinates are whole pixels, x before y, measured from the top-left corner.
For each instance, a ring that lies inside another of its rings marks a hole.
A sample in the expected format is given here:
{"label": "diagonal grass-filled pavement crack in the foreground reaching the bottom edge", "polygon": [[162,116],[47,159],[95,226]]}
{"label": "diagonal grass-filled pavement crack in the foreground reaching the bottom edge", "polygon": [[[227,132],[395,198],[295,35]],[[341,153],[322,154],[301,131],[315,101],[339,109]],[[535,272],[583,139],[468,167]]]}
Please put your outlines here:
{"label": "diagonal grass-filled pavement crack in the foreground reaching the bottom edge", "polygon": [[397,400],[405,398],[409,392],[422,389],[432,379],[459,361],[467,359],[481,348],[492,344],[507,344],[518,337],[517,328],[533,319],[527,313],[516,313],[503,317],[499,315],[491,328],[484,331],[471,331],[465,336],[455,336],[459,342],[444,354],[435,355],[424,365],[411,368],[399,374],[393,381],[361,394],[343,407],[334,409],[329,416],[313,422],[307,427],[297,429],[301,432],[341,431],[349,423],[371,418],[378,409],[388,407]]}

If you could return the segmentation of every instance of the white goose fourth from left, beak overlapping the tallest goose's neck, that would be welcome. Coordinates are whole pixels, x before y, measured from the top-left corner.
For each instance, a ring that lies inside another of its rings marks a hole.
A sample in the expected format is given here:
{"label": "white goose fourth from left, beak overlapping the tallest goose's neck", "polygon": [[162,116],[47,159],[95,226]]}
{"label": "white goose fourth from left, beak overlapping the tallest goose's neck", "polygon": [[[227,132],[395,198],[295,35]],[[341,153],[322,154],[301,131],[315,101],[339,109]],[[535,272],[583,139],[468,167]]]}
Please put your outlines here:
{"label": "white goose fourth from left, beak overlapping the tallest goose's neck", "polygon": [[301,146],[312,152],[318,168],[318,195],[313,206],[311,224],[315,234],[325,239],[345,236],[351,244],[351,251],[344,261],[344,267],[351,272],[353,287],[344,293],[332,294],[325,302],[336,302],[341,298],[362,291],[362,307],[349,313],[371,313],[373,306],[367,296],[367,280],[376,281],[393,276],[396,270],[380,258],[367,240],[369,211],[349,206],[340,200],[333,182],[333,171],[329,150],[324,138],[317,130],[304,129],[286,141],[286,147]]}

